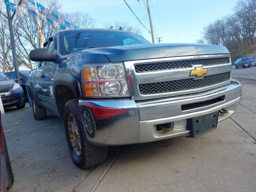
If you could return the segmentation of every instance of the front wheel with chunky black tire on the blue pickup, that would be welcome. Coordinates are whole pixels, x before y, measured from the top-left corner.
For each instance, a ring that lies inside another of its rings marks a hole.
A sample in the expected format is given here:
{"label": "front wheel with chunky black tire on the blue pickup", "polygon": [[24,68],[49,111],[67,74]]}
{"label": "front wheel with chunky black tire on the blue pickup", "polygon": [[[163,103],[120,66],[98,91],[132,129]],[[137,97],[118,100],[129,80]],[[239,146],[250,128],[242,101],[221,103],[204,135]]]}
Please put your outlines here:
{"label": "front wheel with chunky black tire on the blue pickup", "polygon": [[87,169],[106,161],[108,148],[92,145],[86,138],[78,107],[79,99],[66,102],[63,113],[65,133],[73,162],[82,169]]}

